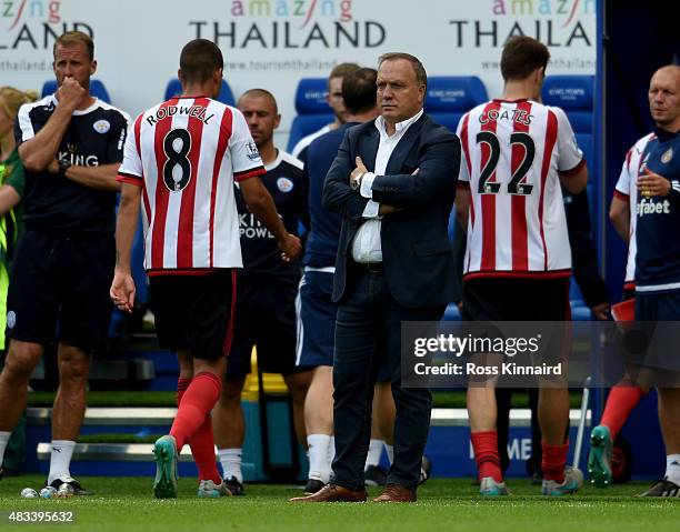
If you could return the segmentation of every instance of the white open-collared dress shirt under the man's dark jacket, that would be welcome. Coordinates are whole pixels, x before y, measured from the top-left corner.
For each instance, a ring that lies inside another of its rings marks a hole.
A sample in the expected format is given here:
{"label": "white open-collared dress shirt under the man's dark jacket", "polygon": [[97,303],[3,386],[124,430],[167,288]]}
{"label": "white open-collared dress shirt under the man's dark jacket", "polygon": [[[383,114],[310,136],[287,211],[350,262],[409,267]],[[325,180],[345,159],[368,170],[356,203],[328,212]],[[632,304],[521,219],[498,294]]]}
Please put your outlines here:
{"label": "white open-collared dress shirt under the man's dark jacket", "polygon": [[[364,198],[373,197],[372,185],[376,175],[384,175],[388,161],[397,148],[399,141],[403,138],[408,129],[422,117],[422,109],[408,120],[397,123],[394,133],[389,135],[386,129],[384,119],[378,117],[376,119],[376,128],[380,133],[380,143],[378,144],[378,153],[376,154],[376,169],[372,172],[367,172],[361,178],[361,187],[359,192]],[[372,199],[366,204],[362,217],[366,221],[359,227],[354,240],[352,241],[352,259],[354,262],[382,262],[382,245],[380,243],[381,218],[378,214],[380,203]]]}

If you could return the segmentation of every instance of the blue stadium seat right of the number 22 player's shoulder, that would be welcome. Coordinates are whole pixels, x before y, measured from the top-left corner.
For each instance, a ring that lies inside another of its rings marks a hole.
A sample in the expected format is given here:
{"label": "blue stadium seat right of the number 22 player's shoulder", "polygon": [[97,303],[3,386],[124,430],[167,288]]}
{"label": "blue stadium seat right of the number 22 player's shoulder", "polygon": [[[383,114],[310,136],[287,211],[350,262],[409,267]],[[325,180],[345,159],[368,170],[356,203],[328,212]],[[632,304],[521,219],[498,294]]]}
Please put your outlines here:
{"label": "blue stadium seat right of the number 22 player's shoulder", "polygon": [[[597,227],[596,205],[598,204],[597,188],[592,183],[599,179],[594,151],[594,76],[549,76],[543,83],[542,100],[547,106],[561,108],[569,117],[579,148],[588,163],[590,174],[588,184],[588,201],[590,202],[590,220]],[[583,303],[581,291],[571,281],[569,291],[572,319],[590,319],[590,309]]]}

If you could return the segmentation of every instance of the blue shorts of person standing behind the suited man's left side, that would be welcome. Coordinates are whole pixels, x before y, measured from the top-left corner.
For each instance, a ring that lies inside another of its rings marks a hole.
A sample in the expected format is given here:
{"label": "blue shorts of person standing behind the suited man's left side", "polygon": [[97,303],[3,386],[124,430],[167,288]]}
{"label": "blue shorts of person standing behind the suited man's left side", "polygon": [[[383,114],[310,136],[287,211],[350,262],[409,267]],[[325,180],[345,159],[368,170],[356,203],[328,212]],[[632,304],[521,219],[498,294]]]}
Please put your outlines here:
{"label": "blue shorts of person standing behind the suited man's left side", "polygon": [[[298,365],[333,365],[338,305],[333,303],[332,294],[332,272],[304,272],[300,280],[297,302]],[[391,380],[390,364],[387,357],[384,359],[378,373],[378,382]]]}

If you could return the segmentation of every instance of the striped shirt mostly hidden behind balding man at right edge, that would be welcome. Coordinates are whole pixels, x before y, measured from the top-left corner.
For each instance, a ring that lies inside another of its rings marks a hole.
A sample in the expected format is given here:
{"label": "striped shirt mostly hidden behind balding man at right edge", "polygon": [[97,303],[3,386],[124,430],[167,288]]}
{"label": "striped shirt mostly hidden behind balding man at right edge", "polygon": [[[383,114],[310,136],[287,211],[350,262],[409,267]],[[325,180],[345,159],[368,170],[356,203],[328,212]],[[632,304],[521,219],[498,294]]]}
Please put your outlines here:
{"label": "striped shirt mostly hidden behind balding man at right edge", "polygon": [[633,147],[628,150],[626,160],[623,161],[623,168],[621,168],[621,174],[617,181],[614,188],[614,198],[626,201],[630,209],[630,230],[628,239],[628,260],[626,262],[626,280],[623,281],[624,290],[632,290],[636,288],[636,224],[638,215],[636,208],[638,204],[638,175],[642,169],[643,153],[647,148],[647,143],[654,138],[654,133],[649,133],[642,137]]}

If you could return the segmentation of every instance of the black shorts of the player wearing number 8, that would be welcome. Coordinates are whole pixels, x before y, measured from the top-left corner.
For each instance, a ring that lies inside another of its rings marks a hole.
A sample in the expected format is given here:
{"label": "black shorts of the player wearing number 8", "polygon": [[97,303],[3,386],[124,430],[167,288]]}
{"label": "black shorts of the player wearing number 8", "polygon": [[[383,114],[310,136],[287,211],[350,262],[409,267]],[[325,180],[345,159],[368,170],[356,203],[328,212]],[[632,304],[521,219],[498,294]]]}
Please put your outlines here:
{"label": "black shorts of the player wearing number 8", "polygon": [[237,272],[154,275],[149,294],[160,345],[194,359],[228,357],[233,337]]}

